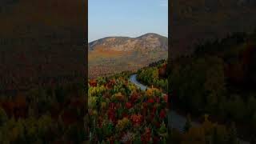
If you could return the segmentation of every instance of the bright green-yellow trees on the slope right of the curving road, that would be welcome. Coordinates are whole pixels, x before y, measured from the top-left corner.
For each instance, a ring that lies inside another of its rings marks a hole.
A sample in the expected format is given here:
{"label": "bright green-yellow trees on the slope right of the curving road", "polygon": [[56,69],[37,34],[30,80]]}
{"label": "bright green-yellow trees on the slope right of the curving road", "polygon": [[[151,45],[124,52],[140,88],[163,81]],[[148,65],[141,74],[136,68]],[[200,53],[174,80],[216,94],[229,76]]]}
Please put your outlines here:
{"label": "bright green-yellow trees on the slope right of the curving road", "polygon": [[156,86],[165,92],[168,90],[166,60],[151,63],[148,67],[138,70],[138,81],[147,86]]}

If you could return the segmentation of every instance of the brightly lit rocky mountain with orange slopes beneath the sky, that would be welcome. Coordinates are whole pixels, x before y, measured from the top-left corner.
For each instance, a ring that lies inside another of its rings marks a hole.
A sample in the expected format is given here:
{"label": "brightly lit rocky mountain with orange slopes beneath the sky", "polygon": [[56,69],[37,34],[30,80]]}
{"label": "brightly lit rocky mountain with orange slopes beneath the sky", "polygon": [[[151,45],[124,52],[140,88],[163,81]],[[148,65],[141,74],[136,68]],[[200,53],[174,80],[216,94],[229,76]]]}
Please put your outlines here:
{"label": "brightly lit rocky mountain with orange slopes beneath the sky", "polygon": [[106,37],[88,44],[89,78],[138,70],[167,58],[168,38],[154,33],[137,38]]}

